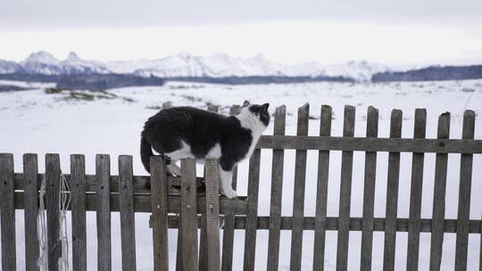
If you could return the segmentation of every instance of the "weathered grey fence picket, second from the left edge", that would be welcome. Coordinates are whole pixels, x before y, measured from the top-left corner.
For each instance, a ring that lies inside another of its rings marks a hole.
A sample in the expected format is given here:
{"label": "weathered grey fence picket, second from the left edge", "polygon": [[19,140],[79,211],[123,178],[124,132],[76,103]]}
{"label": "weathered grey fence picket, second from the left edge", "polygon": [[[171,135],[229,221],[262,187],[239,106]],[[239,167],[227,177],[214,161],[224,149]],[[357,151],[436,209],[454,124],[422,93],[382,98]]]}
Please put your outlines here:
{"label": "weathered grey fence picket, second from the left edge", "polygon": [[[38,164],[37,154],[26,153],[23,155],[23,177],[25,183],[25,270],[38,270]],[[4,193],[2,193],[2,196]]]}

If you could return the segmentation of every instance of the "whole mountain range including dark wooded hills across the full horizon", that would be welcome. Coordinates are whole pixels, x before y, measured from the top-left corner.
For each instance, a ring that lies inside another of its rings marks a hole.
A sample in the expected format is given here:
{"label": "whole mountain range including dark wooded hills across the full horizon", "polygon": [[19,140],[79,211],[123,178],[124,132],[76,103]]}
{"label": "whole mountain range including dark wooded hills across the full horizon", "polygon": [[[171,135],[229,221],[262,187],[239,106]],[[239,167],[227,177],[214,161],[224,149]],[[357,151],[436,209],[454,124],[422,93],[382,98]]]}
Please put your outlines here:
{"label": "whole mountain range including dark wooded hills across the full horizon", "polygon": [[59,78],[67,76],[87,80],[86,76],[103,79],[102,75],[129,75],[129,81],[138,77],[235,85],[312,81],[387,82],[482,78],[482,65],[430,66],[401,71],[364,61],[330,65],[321,62],[282,64],[262,54],[240,58],[226,53],[210,56],[178,53],[154,60],[100,62],[84,60],[74,52],[59,60],[45,51],[31,53],[18,63],[0,60],[0,78],[4,79],[58,82]]}

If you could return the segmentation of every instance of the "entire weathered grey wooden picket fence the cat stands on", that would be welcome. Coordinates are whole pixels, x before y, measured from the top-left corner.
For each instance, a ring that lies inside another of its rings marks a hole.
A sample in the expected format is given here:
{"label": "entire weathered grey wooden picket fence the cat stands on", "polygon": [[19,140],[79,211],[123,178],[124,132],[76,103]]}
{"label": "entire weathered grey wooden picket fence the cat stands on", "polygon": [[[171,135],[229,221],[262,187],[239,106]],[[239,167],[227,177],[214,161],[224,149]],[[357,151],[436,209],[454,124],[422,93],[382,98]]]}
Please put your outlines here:
{"label": "entire weathered grey wooden picket fence the cat stands on", "polygon": [[[237,108],[231,110],[236,112]],[[234,231],[245,230],[244,269],[253,270],[256,232],[269,230],[268,270],[278,270],[279,236],[291,230],[290,268],[301,269],[303,231],[314,231],[313,270],[322,270],[326,231],[337,231],[337,270],[347,268],[350,231],[362,231],[362,270],[371,269],[373,232],[385,232],[384,270],[395,269],[395,236],[408,232],[407,269],[419,264],[420,233],[431,233],[430,269],[439,270],[444,233],[456,234],[455,269],[467,269],[469,234],[482,233],[482,221],[471,220],[470,187],[474,154],[482,153],[482,140],[474,139],[475,114],[466,111],[462,139],[448,139],[450,114],[438,119],[437,139],[425,139],[426,111],[415,113],[414,138],[400,138],[402,111],[391,116],[390,138],[378,136],[378,110],[369,107],[367,137],[353,137],[354,108],[345,107],[343,137],[330,136],[331,108],[322,106],[320,136],[308,135],[309,106],[298,110],[297,136],[284,136],[286,108],[276,109],[274,136],[262,136],[249,160],[247,197],[228,200],[219,197],[217,161],[207,160],[204,178],[195,177],[194,160],[182,160],[182,177],[168,176],[161,157],[151,158],[150,177],[133,176],[132,157],[119,157],[119,176],[110,174],[110,157],[96,155],[96,175],[86,175],[84,155],[71,155],[71,174],[63,175],[71,187],[73,270],[86,270],[86,211],[97,214],[98,269],[111,269],[111,215],[120,211],[123,270],[136,269],[135,212],[151,212],[154,238],[154,270],[167,270],[168,228],[179,228],[177,270],[231,270]],[[261,149],[272,149],[270,217],[258,216]],[[295,191],[292,217],[281,217],[284,150],[295,149]],[[319,151],[315,217],[303,216],[307,150]],[[330,151],[342,151],[339,216],[327,217],[328,165]],[[350,217],[353,152],[365,152],[362,218]],[[386,218],[374,218],[377,152],[389,152],[386,191]],[[397,218],[400,152],[412,153],[409,218]],[[420,218],[421,187],[425,152],[436,152],[436,175],[432,218]],[[445,185],[448,153],[461,154],[457,219],[445,219]],[[23,173],[13,172],[13,155],[0,154],[0,208],[2,269],[15,270],[15,209],[25,209],[26,269],[37,270],[37,210],[39,185],[46,178],[46,209],[49,270],[57,270],[60,246],[58,236],[58,154],[46,154],[46,173],[37,172],[37,154],[24,154]],[[233,186],[236,188],[237,174]],[[203,183],[204,180],[204,183]],[[205,184],[205,185],[204,185]],[[204,189],[203,189],[204,188]],[[177,214],[180,214],[177,215]],[[221,223],[222,222],[222,223]],[[222,225],[222,251],[220,230]],[[197,230],[201,228],[198,251]],[[481,243],[482,246],[482,243]],[[482,250],[482,247],[481,247]],[[482,265],[482,259],[481,259]],[[482,268],[482,267],[481,267]]]}

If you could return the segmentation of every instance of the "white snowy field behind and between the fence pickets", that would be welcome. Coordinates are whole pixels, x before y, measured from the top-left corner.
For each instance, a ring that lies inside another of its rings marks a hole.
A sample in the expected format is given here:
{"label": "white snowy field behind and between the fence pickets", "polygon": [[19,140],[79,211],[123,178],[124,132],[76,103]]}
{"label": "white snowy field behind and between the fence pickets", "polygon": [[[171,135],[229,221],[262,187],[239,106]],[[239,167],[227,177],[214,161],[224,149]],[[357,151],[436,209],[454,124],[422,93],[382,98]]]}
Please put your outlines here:
{"label": "white snowy field behind and between the fence pickets", "polygon": [[[9,85],[12,82],[0,82]],[[29,84],[21,83],[18,86]],[[138,154],[139,134],[145,119],[153,115],[164,102],[173,105],[192,105],[206,108],[208,103],[219,104],[221,112],[228,113],[232,104],[270,103],[270,111],[276,106],[287,105],[287,135],[295,135],[296,111],[303,103],[311,104],[310,135],[319,133],[320,105],[333,107],[334,119],[332,135],[341,136],[345,104],[356,107],[355,136],[364,136],[366,111],[369,105],[379,110],[378,136],[388,137],[390,111],[403,110],[403,137],[413,135],[413,116],[416,108],[427,108],[428,138],[436,137],[438,116],[452,113],[451,137],[461,138],[461,116],[465,104],[468,109],[479,114],[482,111],[482,80],[446,81],[425,83],[390,84],[335,84],[313,83],[264,86],[220,86],[205,84],[170,83],[162,87],[131,87],[112,89],[104,93],[88,93],[92,96],[79,96],[62,92],[46,94],[42,85],[33,85],[35,90],[0,93],[0,152],[14,153],[15,171],[22,171],[22,154],[38,153],[39,171],[44,172],[45,153],[61,155],[63,172],[69,172],[71,153],[86,155],[88,174],[95,173],[96,153],[111,154],[112,174],[117,174],[117,157],[120,154],[134,156],[134,173],[146,175]],[[271,119],[272,121],[272,119]],[[272,133],[272,123],[266,135]],[[475,137],[482,138],[482,118],[476,119]],[[306,175],[305,216],[314,216],[315,187],[317,178],[317,152],[308,152]],[[362,217],[362,192],[364,153],[355,152],[353,163],[352,217]],[[337,216],[339,198],[341,152],[332,152],[329,168],[328,216]],[[386,163],[387,153],[378,153],[377,185],[375,197],[375,217],[385,216],[386,206]],[[457,217],[458,180],[460,155],[449,155],[449,168],[446,195],[446,218]],[[261,216],[268,216],[270,210],[270,164],[271,152],[262,151],[262,172],[260,182]],[[285,176],[283,186],[282,215],[290,216],[293,206],[295,152],[287,151],[285,156]],[[198,167],[201,169],[201,167]],[[434,185],[435,154],[426,154],[421,218],[430,218],[432,213],[432,193]],[[472,197],[470,218],[480,219],[482,214],[482,159],[474,156]],[[411,181],[411,154],[401,157],[401,176],[398,201],[398,217],[408,218]],[[201,174],[199,172],[199,174]],[[247,162],[239,169],[238,194],[247,190]],[[24,230],[23,212],[17,211],[17,265],[24,269]],[[136,215],[137,267],[139,270],[153,269],[152,234],[148,227],[148,215]],[[70,227],[71,228],[71,227]],[[70,229],[69,228],[69,229]],[[96,270],[96,217],[87,215],[87,260],[88,269]],[[174,267],[177,232],[170,232],[170,265]],[[281,233],[280,269],[289,268],[289,231]],[[350,233],[349,270],[358,270],[360,263],[361,232]],[[268,231],[258,231],[256,269],[264,270],[267,260]],[[382,269],[384,234],[376,232],[373,242],[373,269]],[[395,264],[398,270],[405,269],[407,234],[397,234]],[[326,262],[328,270],[335,268],[337,233],[327,234]],[[469,269],[478,270],[480,235],[469,237]],[[312,269],[313,232],[304,232],[303,270]],[[420,270],[428,269],[430,235],[420,234]],[[454,264],[455,234],[445,234],[444,270],[452,270]],[[235,240],[234,267],[243,266],[244,232],[237,231]],[[120,270],[120,217],[112,213],[112,270]]]}

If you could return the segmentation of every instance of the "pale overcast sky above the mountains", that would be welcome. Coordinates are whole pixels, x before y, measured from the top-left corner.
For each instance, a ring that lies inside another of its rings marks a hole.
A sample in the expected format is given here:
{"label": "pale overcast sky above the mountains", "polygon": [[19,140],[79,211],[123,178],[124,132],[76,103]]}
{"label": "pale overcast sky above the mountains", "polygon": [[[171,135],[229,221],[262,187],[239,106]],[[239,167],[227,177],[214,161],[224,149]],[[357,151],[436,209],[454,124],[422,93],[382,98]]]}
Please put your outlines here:
{"label": "pale overcast sky above the mountains", "polygon": [[279,62],[482,62],[481,0],[1,0],[0,58],[160,58],[191,52]]}

